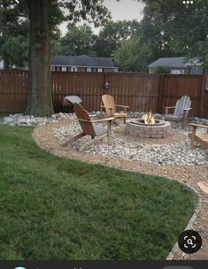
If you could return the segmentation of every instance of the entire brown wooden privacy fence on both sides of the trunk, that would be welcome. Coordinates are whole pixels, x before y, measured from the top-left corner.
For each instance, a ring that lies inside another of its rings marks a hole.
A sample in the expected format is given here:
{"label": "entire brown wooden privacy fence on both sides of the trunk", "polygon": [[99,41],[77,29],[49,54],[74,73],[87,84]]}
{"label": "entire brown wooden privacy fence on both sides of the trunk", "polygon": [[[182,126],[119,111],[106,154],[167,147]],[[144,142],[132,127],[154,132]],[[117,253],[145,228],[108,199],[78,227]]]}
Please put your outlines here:
{"label": "entire brown wooden privacy fence on both sides of the trunk", "polygon": [[[104,89],[107,82],[109,89]],[[27,105],[27,71],[0,72],[0,112],[22,112]],[[195,116],[208,118],[208,75],[149,73],[66,73],[52,72],[55,111],[64,111],[64,96],[77,95],[87,111],[100,111],[101,96],[115,96],[117,104],[130,111],[164,113],[164,106],[190,96]]]}

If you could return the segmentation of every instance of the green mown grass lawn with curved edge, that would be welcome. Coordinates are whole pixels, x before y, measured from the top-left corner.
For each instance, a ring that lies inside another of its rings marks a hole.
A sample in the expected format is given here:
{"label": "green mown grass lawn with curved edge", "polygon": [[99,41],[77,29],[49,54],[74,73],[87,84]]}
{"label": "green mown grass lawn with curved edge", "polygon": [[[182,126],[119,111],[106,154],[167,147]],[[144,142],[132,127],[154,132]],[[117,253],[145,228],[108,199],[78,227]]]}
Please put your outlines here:
{"label": "green mown grass lawn with curved edge", "polygon": [[196,207],[175,181],[57,158],[0,127],[0,259],[164,259]]}

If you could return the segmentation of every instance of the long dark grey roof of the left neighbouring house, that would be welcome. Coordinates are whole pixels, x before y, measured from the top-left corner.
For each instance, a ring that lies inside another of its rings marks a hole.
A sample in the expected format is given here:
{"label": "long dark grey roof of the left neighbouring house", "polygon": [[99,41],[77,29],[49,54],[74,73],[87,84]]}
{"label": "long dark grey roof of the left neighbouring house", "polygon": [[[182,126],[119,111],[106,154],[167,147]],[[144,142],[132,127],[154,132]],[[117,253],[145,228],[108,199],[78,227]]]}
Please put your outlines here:
{"label": "long dark grey roof of the left neighbouring house", "polygon": [[51,65],[61,66],[87,66],[116,68],[112,58],[81,56],[56,56],[51,59]]}

